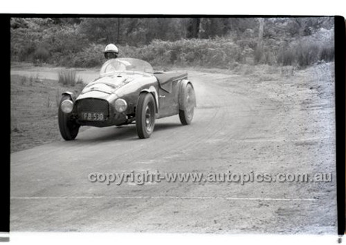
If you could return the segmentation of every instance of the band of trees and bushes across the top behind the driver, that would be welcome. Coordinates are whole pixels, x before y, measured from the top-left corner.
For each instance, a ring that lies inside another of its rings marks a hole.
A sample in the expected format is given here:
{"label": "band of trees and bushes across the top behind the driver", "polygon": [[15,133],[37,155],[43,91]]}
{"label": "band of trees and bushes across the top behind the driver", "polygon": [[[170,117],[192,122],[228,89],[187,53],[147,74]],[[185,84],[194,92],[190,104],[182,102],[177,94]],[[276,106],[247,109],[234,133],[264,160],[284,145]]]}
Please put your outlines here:
{"label": "band of trees and bushes across the top behind the driver", "polygon": [[11,59],[95,67],[116,43],[120,57],[154,66],[305,67],[333,61],[333,25],[332,17],[264,18],[262,35],[257,18],[12,18]]}

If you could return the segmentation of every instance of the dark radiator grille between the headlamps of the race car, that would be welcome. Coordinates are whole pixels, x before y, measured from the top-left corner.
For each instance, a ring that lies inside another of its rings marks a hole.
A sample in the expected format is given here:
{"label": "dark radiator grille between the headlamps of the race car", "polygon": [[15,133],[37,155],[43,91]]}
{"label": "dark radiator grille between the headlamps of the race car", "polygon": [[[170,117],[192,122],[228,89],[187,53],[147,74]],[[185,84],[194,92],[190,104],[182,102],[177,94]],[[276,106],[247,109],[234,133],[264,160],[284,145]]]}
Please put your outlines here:
{"label": "dark radiator grille between the headlamps of the race car", "polygon": [[75,102],[78,114],[82,112],[103,112],[104,116],[109,116],[109,104],[104,99],[80,99]]}

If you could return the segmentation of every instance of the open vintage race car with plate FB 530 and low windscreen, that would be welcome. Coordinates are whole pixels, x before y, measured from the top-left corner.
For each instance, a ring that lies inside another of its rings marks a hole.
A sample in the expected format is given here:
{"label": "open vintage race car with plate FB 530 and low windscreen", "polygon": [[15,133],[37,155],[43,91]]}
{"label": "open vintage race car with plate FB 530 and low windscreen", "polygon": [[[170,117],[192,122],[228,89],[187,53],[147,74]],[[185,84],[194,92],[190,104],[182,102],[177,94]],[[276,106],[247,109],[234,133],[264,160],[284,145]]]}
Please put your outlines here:
{"label": "open vintage race car with plate FB 530 and low windscreen", "polygon": [[196,97],[186,72],[154,72],[140,59],[106,61],[100,77],[85,86],[78,97],[64,92],[58,123],[66,140],[75,139],[80,126],[120,126],[136,122],[138,137],[152,135],[155,119],[179,115],[188,125]]}

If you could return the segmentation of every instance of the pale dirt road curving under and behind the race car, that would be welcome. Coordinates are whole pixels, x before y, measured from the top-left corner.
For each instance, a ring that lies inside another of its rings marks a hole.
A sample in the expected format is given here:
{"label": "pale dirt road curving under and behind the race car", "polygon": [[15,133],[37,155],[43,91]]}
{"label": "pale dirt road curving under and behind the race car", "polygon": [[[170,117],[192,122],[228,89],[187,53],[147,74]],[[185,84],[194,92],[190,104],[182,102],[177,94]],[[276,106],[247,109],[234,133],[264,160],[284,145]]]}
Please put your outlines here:
{"label": "pale dirt road curving under and behind the race car", "polygon": [[[11,231],[336,233],[334,83],[189,71],[190,126],[89,128],[11,154]],[[328,183],[91,183],[90,173],[331,173]]]}

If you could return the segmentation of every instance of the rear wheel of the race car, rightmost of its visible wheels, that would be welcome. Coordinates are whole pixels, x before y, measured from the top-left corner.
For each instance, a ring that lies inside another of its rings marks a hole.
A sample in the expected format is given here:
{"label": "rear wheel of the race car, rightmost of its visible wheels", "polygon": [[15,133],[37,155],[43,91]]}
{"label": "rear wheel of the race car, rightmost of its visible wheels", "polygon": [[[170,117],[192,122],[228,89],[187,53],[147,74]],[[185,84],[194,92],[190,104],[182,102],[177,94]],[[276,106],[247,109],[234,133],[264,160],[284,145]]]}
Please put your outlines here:
{"label": "rear wheel of the race car, rightmost of its visible wheels", "polygon": [[191,84],[188,84],[183,88],[181,93],[183,99],[181,101],[182,110],[179,110],[179,119],[181,124],[191,124],[192,118],[194,117],[194,106],[196,104],[196,97],[194,95],[194,88]]}

